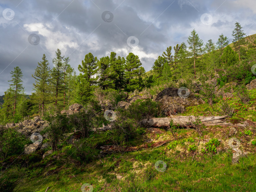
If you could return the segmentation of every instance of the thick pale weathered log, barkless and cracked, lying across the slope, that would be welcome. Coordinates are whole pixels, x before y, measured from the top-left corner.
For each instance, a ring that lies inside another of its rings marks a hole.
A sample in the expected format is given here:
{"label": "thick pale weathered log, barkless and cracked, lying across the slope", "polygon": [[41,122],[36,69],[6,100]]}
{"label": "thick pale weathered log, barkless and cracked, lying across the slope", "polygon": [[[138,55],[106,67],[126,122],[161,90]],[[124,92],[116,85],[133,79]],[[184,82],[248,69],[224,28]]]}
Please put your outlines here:
{"label": "thick pale weathered log, barkless and cracked, lying across the slope", "polygon": [[[238,126],[238,127],[247,127],[249,123],[246,121],[233,124],[228,123],[229,116],[198,116],[201,122],[206,126]],[[193,127],[192,122],[195,122],[198,118],[196,116],[174,116],[174,117],[161,117],[161,118],[148,118],[143,119],[141,122],[142,127],[168,127],[170,125],[170,121],[173,120],[174,125],[179,125],[181,127]]]}

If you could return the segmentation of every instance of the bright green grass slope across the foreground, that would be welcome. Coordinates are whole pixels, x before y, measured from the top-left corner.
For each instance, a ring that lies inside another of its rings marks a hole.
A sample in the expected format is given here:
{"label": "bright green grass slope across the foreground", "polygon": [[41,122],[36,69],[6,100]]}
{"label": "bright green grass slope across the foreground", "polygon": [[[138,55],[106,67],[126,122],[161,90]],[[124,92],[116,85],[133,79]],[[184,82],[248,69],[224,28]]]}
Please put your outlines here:
{"label": "bright green grass slope across the foreground", "polygon": [[[255,191],[256,155],[241,158],[240,163],[231,165],[232,153],[213,155],[211,159],[191,162],[192,157],[182,159],[180,156],[165,155],[165,146],[157,150],[146,150],[113,154],[87,165],[66,165],[58,169],[58,174],[47,175],[50,167],[37,177],[25,178],[19,191],[81,191],[83,183],[93,186],[93,191]],[[142,166],[132,168],[135,162],[125,160],[140,155]],[[168,157],[167,157],[168,156]],[[115,160],[113,160],[115,159]],[[115,165],[120,161],[119,167]],[[154,164],[163,160],[167,170],[159,172]],[[114,166],[113,166],[114,165]],[[137,172],[135,174],[135,172]],[[131,177],[132,180],[118,180],[116,174]],[[29,184],[28,184],[29,183]],[[121,190],[120,190],[121,189]]]}

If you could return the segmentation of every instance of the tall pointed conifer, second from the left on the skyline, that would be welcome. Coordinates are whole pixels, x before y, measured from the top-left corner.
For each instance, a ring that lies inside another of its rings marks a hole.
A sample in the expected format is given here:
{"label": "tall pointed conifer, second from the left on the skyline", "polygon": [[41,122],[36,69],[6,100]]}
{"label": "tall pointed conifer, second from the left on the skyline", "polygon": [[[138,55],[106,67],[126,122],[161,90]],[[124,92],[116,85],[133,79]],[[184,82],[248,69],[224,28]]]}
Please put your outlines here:
{"label": "tall pointed conifer, second from the left on the skyline", "polygon": [[49,67],[49,64],[50,63],[46,59],[45,54],[43,54],[42,61],[38,62],[35,73],[34,75],[32,75],[32,77],[35,78],[35,83],[33,83],[33,90],[36,91],[34,101],[41,109],[42,115],[45,111],[45,104],[51,102],[51,90],[49,87],[49,83],[51,80],[51,69]]}

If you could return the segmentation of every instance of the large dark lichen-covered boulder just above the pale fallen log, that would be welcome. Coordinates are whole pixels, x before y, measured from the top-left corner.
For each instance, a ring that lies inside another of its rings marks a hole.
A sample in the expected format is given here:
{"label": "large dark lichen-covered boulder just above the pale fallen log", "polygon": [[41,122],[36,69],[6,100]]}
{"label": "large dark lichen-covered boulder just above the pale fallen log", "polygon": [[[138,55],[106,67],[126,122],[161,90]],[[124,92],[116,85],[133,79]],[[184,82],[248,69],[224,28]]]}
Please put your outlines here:
{"label": "large dark lichen-covered boulder just above the pale fallen log", "polygon": [[183,113],[186,107],[203,103],[200,99],[197,99],[193,93],[190,93],[187,98],[181,98],[178,95],[178,90],[178,88],[168,87],[156,96],[155,101],[160,102],[160,109],[164,115],[170,116]]}

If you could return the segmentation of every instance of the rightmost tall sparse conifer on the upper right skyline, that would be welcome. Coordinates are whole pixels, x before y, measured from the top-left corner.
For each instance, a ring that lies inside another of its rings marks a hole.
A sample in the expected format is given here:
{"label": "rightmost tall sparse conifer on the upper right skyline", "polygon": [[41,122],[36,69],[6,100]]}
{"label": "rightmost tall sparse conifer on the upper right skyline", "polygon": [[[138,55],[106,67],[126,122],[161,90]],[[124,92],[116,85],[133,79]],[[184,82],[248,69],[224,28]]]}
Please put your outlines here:
{"label": "rightmost tall sparse conifer on the upper right skyline", "polygon": [[244,31],[242,30],[243,27],[241,27],[240,23],[235,22],[235,28],[232,31],[232,36],[234,37],[233,43],[235,47],[235,51],[238,52],[239,61],[241,61],[241,46],[245,44],[245,38],[246,35]]}

